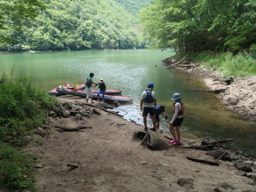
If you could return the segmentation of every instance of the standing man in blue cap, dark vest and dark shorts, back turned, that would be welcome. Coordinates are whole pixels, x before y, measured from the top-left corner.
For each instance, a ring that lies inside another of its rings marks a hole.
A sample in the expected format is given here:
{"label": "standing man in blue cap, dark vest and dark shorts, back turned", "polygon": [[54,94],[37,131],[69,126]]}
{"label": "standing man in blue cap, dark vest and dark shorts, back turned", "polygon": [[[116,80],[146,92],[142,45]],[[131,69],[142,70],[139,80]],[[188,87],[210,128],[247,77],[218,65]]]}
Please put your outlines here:
{"label": "standing man in blue cap, dark vest and dark shorts, back turned", "polygon": [[[140,101],[140,110],[143,111],[142,116],[143,116],[143,123],[145,126],[145,131],[148,131],[147,127],[147,116],[148,113],[150,115],[150,118],[153,121],[153,128],[150,129],[152,131],[156,131],[156,93],[153,92],[154,88],[153,83],[148,83],[148,88],[141,94],[141,101]],[[142,108],[142,105],[144,103],[144,107]]]}

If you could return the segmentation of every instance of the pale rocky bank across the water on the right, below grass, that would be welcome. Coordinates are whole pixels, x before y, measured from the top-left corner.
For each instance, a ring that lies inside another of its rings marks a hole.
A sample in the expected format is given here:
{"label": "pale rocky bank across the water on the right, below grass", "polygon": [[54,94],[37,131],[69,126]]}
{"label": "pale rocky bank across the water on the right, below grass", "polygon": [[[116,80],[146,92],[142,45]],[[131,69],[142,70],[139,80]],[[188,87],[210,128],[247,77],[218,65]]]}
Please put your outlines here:
{"label": "pale rocky bank across the water on the right, below grass", "polygon": [[[163,60],[163,63],[166,68],[170,68],[170,65],[177,63],[177,60],[167,58]],[[256,76],[227,78],[220,72],[212,72],[209,68],[201,67],[200,63],[193,65],[187,64],[188,67],[175,65],[173,67],[204,77],[205,84],[210,90],[219,93],[218,98],[225,106],[235,113],[241,113],[256,120]]]}

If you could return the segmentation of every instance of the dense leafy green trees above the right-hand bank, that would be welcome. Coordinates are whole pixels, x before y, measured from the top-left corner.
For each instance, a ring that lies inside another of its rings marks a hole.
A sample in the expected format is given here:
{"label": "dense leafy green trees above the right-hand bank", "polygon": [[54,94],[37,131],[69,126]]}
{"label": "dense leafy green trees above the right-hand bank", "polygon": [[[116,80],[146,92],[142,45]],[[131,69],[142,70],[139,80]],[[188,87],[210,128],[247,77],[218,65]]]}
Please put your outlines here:
{"label": "dense leafy green trees above the right-hand bank", "polygon": [[255,0],[155,0],[141,11],[151,49],[178,52],[249,50],[255,21]]}

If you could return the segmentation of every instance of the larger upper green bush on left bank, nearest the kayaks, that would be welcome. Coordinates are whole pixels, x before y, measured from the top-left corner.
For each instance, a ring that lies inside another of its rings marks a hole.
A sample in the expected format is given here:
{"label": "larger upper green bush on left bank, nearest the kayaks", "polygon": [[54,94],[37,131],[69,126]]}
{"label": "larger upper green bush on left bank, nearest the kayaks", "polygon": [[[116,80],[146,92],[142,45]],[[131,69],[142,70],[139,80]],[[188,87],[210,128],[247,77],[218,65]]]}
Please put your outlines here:
{"label": "larger upper green bush on left bank, nearest the kayaks", "polygon": [[31,78],[13,79],[3,74],[0,83],[0,135],[6,141],[22,145],[23,138],[46,119],[45,110],[51,109],[57,100],[45,92],[36,90]]}

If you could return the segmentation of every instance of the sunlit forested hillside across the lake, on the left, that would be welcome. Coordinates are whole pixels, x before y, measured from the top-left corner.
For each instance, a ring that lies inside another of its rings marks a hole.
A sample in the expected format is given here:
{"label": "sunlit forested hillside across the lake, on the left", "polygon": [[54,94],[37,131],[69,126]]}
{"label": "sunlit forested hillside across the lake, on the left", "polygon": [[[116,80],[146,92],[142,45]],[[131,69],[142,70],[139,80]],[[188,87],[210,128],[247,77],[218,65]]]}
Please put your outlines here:
{"label": "sunlit forested hillside across the lake, on the left", "polygon": [[[1,51],[145,46],[138,19],[140,9],[148,6],[149,0],[45,0],[44,4],[47,8],[38,12],[38,17],[21,20],[22,33],[9,26],[13,23],[11,18],[4,22],[0,35],[13,41],[0,44]],[[12,14],[10,10],[1,13]]]}

